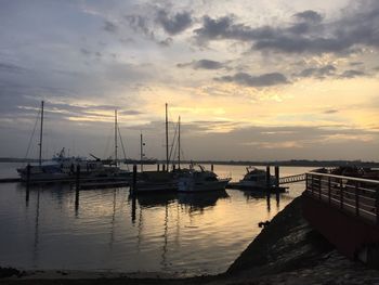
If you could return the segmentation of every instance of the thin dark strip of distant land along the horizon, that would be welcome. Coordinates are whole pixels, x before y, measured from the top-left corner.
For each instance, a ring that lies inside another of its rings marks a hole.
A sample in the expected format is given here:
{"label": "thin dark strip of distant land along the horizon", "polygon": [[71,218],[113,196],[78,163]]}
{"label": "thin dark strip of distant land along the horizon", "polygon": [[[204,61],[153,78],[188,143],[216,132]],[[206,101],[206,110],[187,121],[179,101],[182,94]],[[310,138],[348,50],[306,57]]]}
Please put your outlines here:
{"label": "thin dark strip of distant land along the horizon", "polygon": [[[119,160],[122,163],[123,160]],[[135,160],[139,161],[139,160]],[[134,163],[135,163],[134,161]],[[38,163],[38,159],[0,157],[0,163]],[[173,161],[177,164],[177,161]],[[173,164],[171,163],[171,164]],[[202,165],[236,165],[236,166],[293,166],[293,167],[340,167],[340,166],[356,166],[365,168],[379,168],[379,163],[362,161],[362,160],[308,160],[308,159],[291,159],[291,160],[182,160],[181,164],[186,165],[197,163]],[[139,163],[135,163],[139,164]],[[151,163],[149,163],[151,164]],[[166,160],[157,160],[157,164],[166,164]]]}

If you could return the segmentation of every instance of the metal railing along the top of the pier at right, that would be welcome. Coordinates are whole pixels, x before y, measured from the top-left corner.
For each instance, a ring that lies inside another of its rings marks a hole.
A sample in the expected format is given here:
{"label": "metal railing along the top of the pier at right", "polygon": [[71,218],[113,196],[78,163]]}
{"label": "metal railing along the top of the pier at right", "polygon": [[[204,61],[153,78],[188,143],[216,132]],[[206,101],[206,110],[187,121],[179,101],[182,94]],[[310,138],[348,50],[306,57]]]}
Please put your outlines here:
{"label": "metal railing along the top of the pier at right", "polygon": [[305,173],[306,195],[379,225],[379,181]]}

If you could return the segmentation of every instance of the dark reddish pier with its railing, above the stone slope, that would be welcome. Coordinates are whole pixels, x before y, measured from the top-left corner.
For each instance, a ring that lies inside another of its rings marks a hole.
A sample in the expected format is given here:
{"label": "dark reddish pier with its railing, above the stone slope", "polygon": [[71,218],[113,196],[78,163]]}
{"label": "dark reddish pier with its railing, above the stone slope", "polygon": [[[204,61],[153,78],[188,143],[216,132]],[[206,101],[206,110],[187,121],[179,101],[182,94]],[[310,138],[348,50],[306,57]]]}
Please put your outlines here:
{"label": "dark reddish pier with its railing, above the stone slope", "polygon": [[379,181],[309,172],[303,217],[339,251],[379,267]]}

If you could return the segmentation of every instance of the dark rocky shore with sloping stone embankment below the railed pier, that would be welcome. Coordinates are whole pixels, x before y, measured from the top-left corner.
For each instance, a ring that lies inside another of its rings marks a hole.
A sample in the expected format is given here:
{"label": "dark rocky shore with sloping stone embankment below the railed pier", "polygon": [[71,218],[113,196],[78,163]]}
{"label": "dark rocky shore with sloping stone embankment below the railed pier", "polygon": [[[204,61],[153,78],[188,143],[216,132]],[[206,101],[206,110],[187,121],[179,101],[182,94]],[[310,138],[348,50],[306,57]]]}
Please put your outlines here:
{"label": "dark rocky shore with sloping stone embankment below the railed pier", "polygon": [[379,284],[379,271],[336,251],[301,215],[301,197],[282,210],[230,269],[180,278],[161,273],[0,269],[1,284]]}

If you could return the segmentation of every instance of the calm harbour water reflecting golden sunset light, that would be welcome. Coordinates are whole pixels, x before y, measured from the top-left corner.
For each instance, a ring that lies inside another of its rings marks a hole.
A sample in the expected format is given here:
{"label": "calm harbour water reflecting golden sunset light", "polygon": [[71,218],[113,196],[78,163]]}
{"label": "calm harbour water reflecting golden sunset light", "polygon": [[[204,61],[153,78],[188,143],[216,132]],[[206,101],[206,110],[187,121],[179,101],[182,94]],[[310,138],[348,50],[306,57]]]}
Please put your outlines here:
{"label": "calm harbour water reflecting golden sunset light", "polygon": [[[0,164],[15,177],[16,164]],[[155,169],[156,166],[151,166]],[[243,166],[215,166],[239,180]],[[283,167],[280,176],[310,168]],[[129,196],[128,187],[80,191],[69,185],[35,186],[26,202],[18,183],[0,184],[0,267],[23,269],[220,273],[271,220],[301,194],[252,195],[238,190],[207,194]]]}

